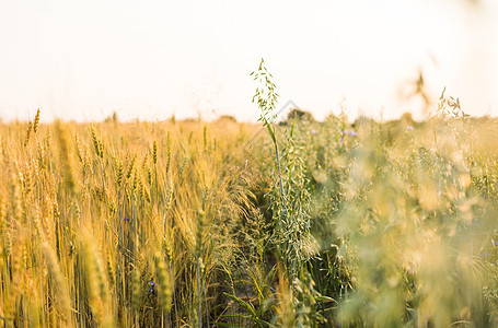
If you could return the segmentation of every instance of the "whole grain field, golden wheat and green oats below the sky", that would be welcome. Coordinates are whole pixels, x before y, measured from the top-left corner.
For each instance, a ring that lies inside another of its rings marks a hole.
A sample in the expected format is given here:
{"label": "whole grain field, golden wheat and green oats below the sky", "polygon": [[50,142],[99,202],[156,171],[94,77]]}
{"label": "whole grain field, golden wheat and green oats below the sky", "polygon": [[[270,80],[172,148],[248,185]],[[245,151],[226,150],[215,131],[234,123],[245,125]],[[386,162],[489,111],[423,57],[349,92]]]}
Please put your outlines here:
{"label": "whole grain field, golden wheat and green oats below the sky", "polygon": [[2,124],[1,323],[496,327],[498,122],[445,104]]}

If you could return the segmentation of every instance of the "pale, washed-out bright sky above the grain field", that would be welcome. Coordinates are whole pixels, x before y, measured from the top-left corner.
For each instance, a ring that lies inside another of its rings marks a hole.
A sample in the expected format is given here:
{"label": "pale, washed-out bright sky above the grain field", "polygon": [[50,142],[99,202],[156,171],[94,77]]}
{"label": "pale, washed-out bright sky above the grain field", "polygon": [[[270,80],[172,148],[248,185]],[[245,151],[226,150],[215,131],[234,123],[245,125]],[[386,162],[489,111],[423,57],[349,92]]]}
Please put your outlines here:
{"label": "pale, washed-out bright sky above the grain field", "polygon": [[262,57],[280,105],[317,118],[421,117],[404,96],[419,69],[435,99],[447,86],[498,115],[496,0],[16,0],[0,4],[0,117],[256,120]]}

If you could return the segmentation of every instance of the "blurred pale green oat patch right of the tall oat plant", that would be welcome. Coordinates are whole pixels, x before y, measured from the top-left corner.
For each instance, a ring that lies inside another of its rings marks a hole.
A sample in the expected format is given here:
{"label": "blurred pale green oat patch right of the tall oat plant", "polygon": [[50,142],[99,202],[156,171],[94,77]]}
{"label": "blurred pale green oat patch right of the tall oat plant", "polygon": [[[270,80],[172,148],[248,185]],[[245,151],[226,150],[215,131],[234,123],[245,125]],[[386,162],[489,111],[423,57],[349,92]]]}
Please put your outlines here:
{"label": "blurred pale green oat patch right of the tall oat plant", "polygon": [[478,124],[361,119],[352,130],[331,117],[294,132],[321,249],[308,268],[338,302],[325,326],[496,324],[496,156]]}

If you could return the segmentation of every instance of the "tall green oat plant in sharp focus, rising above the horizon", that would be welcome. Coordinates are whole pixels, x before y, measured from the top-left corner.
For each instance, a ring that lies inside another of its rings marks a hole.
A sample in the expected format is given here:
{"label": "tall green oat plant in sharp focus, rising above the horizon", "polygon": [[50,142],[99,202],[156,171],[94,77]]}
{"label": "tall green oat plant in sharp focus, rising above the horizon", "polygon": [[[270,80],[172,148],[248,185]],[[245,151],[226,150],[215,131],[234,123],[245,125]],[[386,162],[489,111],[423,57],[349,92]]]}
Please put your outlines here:
{"label": "tall green oat plant in sharp focus, rising above the horizon", "polygon": [[[269,242],[277,253],[277,265],[268,274],[275,272],[276,268],[279,274],[270,274],[269,281],[253,280],[255,290],[265,291],[258,293],[257,308],[235,295],[227,296],[239,303],[247,312],[243,316],[257,326],[316,327],[319,323],[325,321],[317,304],[331,298],[315,291],[314,282],[304,268],[304,263],[314,253],[314,239],[310,234],[310,179],[305,175],[304,160],[301,156],[302,144],[294,141],[293,124],[289,133],[282,133],[286,138],[279,151],[275,109],[278,94],[271,81],[273,75],[263,59],[251,75],[259,84],[253,103],[256,103],[260,110],[258,120],[269,133],[276,161],[276,173],[271,174],[274,184],[270,184],[266,197],[271,210],[273,233]],[[277,289],[268,286],[274,280],[279,282]],[[259,281],[263,281],[264,285],[259,285]],[[262,316],[269,309],[273,314],[271,320],[263,319]]]}

